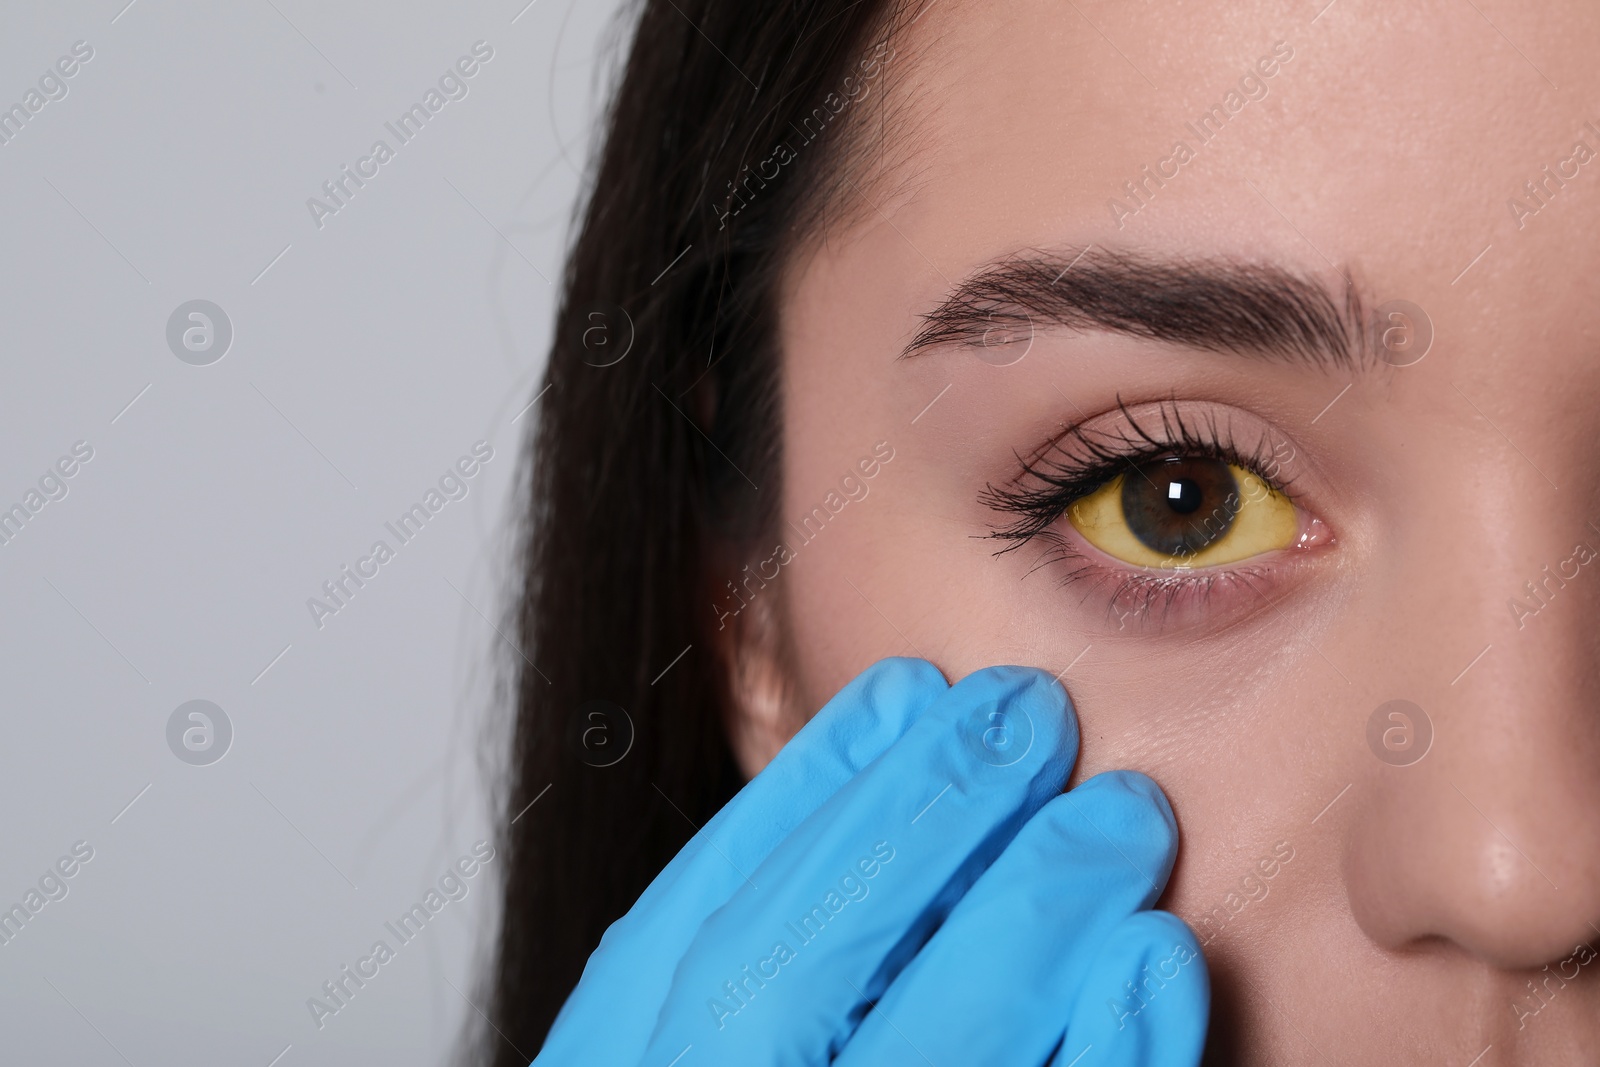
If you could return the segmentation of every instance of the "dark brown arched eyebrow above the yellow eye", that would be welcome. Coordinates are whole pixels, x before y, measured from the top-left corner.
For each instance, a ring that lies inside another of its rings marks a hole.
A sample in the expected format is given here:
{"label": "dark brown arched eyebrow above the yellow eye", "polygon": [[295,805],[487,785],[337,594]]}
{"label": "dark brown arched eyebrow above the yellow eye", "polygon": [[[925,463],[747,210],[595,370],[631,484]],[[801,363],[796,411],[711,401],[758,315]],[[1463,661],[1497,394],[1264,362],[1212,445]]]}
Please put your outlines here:
{"label": "dark brown arched eyebrow above the yellow eye", "polygon": [[1334,296],[1272,264],[1157,259],[1088,246],[1077,256],[1030,250],[966,277],[931,312],[899,358],[946,344],[984,346],[1040,326],[1109,330],[1206,352],[1357,370],[1370,330],[1349,274]]}

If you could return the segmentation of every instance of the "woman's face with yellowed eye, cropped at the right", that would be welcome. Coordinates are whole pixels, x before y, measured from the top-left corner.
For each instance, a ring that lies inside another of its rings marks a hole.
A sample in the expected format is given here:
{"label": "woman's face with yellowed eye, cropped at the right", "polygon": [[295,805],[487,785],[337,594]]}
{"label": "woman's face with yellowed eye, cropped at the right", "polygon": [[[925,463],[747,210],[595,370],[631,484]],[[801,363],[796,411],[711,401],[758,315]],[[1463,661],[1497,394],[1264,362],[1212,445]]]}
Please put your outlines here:
{"label": "woman's face with yellowed eye, cropped at the right", "polygon": [[1600,8],[1318,8],[923,11],[784,294],[754,597],[813,712],[883,656],[1061,672],[1075,781],[1178,813],[1229,1061],[1576,1062]]}

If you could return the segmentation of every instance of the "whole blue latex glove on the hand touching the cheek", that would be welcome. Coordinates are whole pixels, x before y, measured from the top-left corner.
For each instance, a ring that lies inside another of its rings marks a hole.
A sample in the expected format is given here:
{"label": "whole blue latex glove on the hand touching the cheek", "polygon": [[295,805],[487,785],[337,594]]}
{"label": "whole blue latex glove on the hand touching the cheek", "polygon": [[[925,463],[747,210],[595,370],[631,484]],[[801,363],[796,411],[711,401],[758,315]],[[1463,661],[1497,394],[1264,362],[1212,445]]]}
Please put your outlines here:
{"label": "whole blue latex glove on the hand touching the cheek", "polygon": [[1210,982],[1149,910],[1178,848],[1131,771],[1062,793],[1062,688],[885,659],[605,934],[538,1061],[1194,1065]]}

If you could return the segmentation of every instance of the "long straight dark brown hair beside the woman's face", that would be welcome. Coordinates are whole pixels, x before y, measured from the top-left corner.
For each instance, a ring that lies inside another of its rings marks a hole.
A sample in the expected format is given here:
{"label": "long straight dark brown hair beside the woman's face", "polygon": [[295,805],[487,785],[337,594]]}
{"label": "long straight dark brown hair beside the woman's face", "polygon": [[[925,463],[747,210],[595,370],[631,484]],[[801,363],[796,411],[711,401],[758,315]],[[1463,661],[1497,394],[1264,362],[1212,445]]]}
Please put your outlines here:
{"label": "long straight dark brown hair beside the woman's face", "polygon": [[872,138],[842,112],[870,94],[896,11],[638,10],[518,488],[504,909],[474,1062],[538,1053],[605,928],[742,784],[715,560],[776,514],[774,293],[856,189],[845,163]]}

